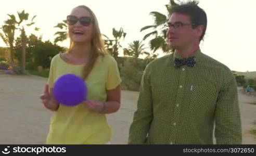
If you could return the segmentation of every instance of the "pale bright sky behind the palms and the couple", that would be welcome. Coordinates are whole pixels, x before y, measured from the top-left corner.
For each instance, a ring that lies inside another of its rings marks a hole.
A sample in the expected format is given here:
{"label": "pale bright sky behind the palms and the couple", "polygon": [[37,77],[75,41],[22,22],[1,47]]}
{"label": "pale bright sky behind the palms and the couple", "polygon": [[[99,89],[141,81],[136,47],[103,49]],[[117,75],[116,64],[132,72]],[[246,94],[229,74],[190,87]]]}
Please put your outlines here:
{"label": "pale bright sky behind the palms and the couple", "polygon": [[[54,33],[59,31],[54,26],[66,19],[72,8],[86,5],[94,11],[101,33],[111,37],[112,28],[123,28],[127,35],[122,45],[127,47],[128,43],[142,40],[150,32],[139,32],[144,26],[153,24],[149,12],[158,11],[167,15],[164,5],[168,3],[169,0],[8,0],[1,4],[0,25],[8,18],[7,14],[25,10],[31,17],[37,15],[35,26],[40,28],[39,32],[29,30],[28,35],[43,35],[43,41],[53,42]],[[222,62],[231,70],[256,71],[256,1],[201,0],[199,6],[206,11],[208,18],[206,35],[200,44],[202,53]],[[69,41],[59,45],[68,47]],[[0,46],[6,46],[1,38]]]}

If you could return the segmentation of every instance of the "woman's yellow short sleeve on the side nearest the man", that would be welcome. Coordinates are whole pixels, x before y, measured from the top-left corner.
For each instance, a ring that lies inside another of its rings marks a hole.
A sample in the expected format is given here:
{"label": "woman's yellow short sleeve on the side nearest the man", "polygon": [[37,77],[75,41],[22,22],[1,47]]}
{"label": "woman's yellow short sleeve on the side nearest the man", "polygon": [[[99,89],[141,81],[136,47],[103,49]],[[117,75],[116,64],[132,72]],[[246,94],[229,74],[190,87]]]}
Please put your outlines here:
{"label": "woman's yellow short sleeve on the side nearest the man", "polygon": [[108,61],[108,77],[106,82],[107,90],[116,88],[121,83],[117,61],[112,56]]}

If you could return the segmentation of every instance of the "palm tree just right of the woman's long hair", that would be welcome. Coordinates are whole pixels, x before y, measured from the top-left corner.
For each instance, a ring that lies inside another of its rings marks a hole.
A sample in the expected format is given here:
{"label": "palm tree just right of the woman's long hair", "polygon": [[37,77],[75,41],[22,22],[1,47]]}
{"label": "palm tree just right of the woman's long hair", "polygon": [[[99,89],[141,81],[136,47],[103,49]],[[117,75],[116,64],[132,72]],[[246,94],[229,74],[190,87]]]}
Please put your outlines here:
{"label": "palm tree just right of the woman's long hair", "polygon": [[110,39],[108,36],[104,35],[107,39],[105,40],[105,48],[109,51],[109,53],[114,57],[114,59],[118,59],[118,50],[122,47],[120,44],[121,38],[125,38],[126,33],[123,31],[123,28],[120,28],[119,31],[116,29],[112,29],[113,39]]}

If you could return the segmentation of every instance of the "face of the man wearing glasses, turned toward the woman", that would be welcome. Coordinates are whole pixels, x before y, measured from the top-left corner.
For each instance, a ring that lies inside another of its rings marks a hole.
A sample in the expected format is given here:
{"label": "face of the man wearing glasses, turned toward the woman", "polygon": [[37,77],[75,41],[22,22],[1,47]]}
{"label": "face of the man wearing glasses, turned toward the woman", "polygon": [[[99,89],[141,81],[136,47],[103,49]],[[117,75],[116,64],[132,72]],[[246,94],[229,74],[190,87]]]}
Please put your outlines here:
{"label": "face of the man wearing glasses, turned toward the woman", "polygon": [[199,39],[198,29],[193,29],[189,16],[173,13],[168,21],[168,43],[174,49],[183,49]]}

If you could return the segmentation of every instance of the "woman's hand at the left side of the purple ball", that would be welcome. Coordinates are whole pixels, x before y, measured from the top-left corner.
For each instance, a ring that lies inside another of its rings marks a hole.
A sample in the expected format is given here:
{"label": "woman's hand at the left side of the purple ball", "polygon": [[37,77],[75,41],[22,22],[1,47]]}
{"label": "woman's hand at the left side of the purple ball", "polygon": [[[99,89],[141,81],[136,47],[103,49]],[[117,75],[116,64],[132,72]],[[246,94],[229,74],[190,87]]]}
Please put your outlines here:
{"label": "woman's hand at the left side of the purple ball", "polygon": [[56,99],[53,96],[53,90],[50,89],[50,92],[49,92],[48,84],[45,85],[44,94],[40,96],[40,99],[42,100],[44,107],[46,107],[47,109],[52,111],[58,110],[59,103],[56,101]]}

